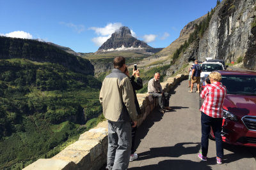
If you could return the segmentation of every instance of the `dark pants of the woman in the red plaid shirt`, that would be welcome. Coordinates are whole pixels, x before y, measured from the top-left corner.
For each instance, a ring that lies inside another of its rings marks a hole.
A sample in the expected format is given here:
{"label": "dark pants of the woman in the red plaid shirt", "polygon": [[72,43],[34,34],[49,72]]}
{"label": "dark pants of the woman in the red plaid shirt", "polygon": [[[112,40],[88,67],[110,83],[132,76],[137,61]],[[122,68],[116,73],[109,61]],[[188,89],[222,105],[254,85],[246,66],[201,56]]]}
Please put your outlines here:
{"label": "dark pants of the woman in the red plaid shirt", "polygon": [[201,113],[201,125],[202,125],[202,138],[201,138],[201,146],[202,146],[202,155],[204,157],[207,156],[208,153],[208,145],[209,145],[209,134],[211,131],[214,132],[215,141],[216,141],[216,153],[217,157],[223,158],[223,144],[221,138],[221,127],[222,127],[222,118],[213,118],[205,115],[204,112]]}

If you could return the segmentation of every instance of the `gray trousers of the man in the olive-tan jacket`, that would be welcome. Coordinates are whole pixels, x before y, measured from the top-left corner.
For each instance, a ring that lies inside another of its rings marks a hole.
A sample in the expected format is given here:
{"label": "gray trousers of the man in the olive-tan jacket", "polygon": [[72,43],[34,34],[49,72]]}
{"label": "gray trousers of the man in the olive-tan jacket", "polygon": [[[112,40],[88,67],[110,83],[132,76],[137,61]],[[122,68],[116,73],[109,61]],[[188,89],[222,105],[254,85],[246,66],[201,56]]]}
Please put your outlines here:
{"label": "gray trousers of the man in the olive-tan jacket", "polygon": [[108,159],[106,169],[127,169],[131,154],[131,123],[108,120]]}

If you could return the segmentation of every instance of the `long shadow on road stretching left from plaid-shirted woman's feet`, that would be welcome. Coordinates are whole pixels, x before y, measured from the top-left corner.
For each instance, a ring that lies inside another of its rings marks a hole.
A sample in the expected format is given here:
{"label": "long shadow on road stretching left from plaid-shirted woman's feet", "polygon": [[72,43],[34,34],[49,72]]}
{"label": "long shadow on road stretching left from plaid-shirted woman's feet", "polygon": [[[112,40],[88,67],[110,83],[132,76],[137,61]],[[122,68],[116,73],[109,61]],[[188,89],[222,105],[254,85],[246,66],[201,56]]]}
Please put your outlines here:
{"label": "long shadow on road stretching left from plaid-shirted woman's feet", "polygon": [[[184,145],[195,146],[184,146]],[[139,153],[138,160],[154,159],[156,157],[180,157],[181,155],[196,154],[200,150],[200,143],[177,143],[174,146],[150,148],[147,152]]]}

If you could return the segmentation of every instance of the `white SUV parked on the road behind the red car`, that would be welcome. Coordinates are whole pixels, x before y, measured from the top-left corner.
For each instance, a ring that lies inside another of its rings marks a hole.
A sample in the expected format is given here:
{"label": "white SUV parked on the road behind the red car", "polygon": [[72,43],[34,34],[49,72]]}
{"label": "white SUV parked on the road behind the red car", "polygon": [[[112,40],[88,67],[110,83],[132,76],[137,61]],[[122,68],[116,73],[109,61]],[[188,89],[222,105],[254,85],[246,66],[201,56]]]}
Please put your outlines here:
{"label": "white SUV parked on the road behind the red car", "polygon": [[221,62],[203,62],[202,65],[202,73],[200,74],[201,83],[205,80],[205,78],[215,70],[224,70],[223,64]]}

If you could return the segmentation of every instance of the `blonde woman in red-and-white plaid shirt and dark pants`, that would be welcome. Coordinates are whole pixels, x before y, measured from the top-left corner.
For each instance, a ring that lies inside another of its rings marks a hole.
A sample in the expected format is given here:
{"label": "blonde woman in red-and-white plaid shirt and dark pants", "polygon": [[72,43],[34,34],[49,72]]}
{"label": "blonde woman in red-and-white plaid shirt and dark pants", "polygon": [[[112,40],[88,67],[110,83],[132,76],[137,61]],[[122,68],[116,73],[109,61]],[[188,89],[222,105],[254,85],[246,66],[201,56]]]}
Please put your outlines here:
{"label": "blonde woman in red-and-white plaid shirt and dark pants", "polygon": [[[201,126],[202,126],[202,138],[201,146],[202,152],[198,154],[198,157],[207,161],[207,152],[209,145],[209,134],[211,131],[214,132],[216,141],[216,161],[218,164],[222,164],[223,159],[223,145],[221,138],[221,125],[223,118],[223,102],[227,94],[225,85],[222,85],[221,74],[218,72],[212,72],[209,74],[211,84],[205,85],[200,97],[204,100],[202,107],[200,108],[201,113]],[[206,84],[206,82],[205,82]]]}

